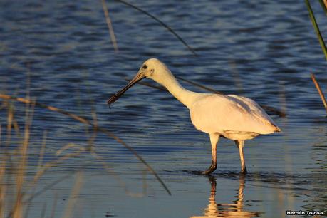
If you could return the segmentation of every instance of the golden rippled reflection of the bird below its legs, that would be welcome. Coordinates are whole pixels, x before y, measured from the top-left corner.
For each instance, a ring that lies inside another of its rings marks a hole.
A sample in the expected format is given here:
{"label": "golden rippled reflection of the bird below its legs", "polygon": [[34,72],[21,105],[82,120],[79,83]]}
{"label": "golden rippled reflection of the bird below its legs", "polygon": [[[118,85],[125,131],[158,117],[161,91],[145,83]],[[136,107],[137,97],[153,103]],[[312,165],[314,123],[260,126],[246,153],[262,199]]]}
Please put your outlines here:
{"label": "golden rippled reflection of the bird below its legs", "polygon": [[209,177],[211,183],[211,193],[209,197],[209,204],[206,209],[204,209],[204,216],[195,216],[190,218],[204,218],[204,217],[259,217],[260,212],[248,212],[244,211],[244,175],[239,177],[239,192],[237,194],[237,199],[233,201],[233,204],[217,204],[216,203],[216,178]]}

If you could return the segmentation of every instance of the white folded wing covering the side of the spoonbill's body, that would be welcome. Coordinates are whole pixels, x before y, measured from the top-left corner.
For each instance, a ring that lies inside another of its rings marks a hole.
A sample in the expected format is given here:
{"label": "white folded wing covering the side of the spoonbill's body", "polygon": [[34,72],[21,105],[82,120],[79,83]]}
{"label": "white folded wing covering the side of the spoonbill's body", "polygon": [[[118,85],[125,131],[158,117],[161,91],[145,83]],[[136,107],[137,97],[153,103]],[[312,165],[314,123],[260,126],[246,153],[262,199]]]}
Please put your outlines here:
{"label": "white folded wing covering the side of the spoonbill's body", "polygon": [[276,130],[274,121],[249,98],[237,95],[207,95],[190,109],[193,125],[205,133],[225,131],[269,134]]}

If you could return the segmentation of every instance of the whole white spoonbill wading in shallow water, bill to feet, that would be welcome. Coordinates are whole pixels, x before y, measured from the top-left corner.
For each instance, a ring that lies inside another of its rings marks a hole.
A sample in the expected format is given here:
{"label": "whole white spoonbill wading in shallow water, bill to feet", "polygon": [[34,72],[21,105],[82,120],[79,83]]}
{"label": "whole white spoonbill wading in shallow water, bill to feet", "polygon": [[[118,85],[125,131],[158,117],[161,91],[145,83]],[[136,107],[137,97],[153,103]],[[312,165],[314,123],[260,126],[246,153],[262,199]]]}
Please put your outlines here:
{"label": "whole white spoonbill wading in shallow water, bill to feet", "polygon": [[108,100],[108,104],[115,102],[142,78],[151,78],[165,86],[177,100],[189,108],[195,128],[209,134],[212,164],[203,174],[208,175],[217,168],[217,142],[220,136],[234,140],[239,148],[241,172],[245,174],[244,140],[252,139],[260,134],[281,131],[254,100],[237,95],[194,93],[186,90],[177,82],[167,66],[156,58],[145,61],[133,80],[113,95]]}

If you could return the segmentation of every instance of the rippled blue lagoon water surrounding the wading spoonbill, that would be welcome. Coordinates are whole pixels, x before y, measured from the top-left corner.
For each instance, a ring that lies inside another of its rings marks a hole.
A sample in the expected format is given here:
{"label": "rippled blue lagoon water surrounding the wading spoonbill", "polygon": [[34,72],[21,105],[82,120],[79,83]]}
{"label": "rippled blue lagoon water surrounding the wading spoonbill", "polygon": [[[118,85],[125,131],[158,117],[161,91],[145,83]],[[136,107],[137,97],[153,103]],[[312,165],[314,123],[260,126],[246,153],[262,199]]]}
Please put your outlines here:
{"label": "rippled blue lagoon water surrounding the wading spoonbill", "polygon": [[[108,3],[120,49],[115,53],[100,1],[1,1],[1,92],[25,96],[30,75],[31,96],[40,103],[90,120],[95,110],[98,124],[137,150],[172,195],[128,150],[98,133],[92,144],[101,159],[85,151],[51,167],[36,185],[35,192],[46,192],[28,204],[28,217],[43,212],[51,216],[53,208],[54,217],[62,217],[70,210],[68,202],[73,202],[71,217],[244,217],[246,212],[248,217],[286,217],[287,209],[326,212],[327,120],[309,75],[315,73],[326,90],[326,60],[304,2],[130,2],[169,24],[199,56],[192,56],[155,21],[119,2]],[[317,3],[313,9],[326,32],[322,9]],[[249,175],[239,177],[237,149],[224,139],[217,147],[214,179],[194,173],[210,164],[209,137],[194,129],[187,108],[168,93],[135,85],[108,108],[110,94],[150,57],[160,58],[182,78],[286,111],[286,118],[271,115],[282,133],[246,142]],[[24,105],[15,103],[15,110],[23,130]],[[2,127],[6,112],[0,111]],[[92,136],[81,123],[36,108],[26,180],[37,171],[44,130],[44,163],[56,160],[56,151],[68,143],[88,147]],[[13,136],[9,149],[19,145]],[[76,147],[61,155],[74,151]],[[83,172],[76,173],[81,168]],[[71,194],[76,181],[81,188]],[[12,182],[7,185],[14,190]]]}

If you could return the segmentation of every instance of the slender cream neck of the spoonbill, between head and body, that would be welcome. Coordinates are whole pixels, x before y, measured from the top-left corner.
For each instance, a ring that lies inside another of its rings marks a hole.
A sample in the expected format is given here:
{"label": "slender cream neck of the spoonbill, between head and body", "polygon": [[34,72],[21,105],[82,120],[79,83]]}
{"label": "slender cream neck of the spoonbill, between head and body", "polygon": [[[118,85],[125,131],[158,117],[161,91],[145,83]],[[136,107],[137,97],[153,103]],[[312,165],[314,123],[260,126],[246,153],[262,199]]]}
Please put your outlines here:
{"label": "slender cream neck of the spoonbill, between head and body", "polygon": [[186,88],[183,88],[180,83],[176,80],[172,73],[169,73],[165,79],[157,81],[167,88],[167,90],[179,100],[187,108],[191,108],[192,104],[197,100],[201,93],[194,93]]}

